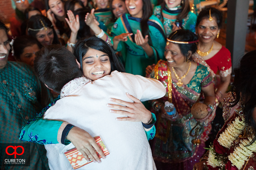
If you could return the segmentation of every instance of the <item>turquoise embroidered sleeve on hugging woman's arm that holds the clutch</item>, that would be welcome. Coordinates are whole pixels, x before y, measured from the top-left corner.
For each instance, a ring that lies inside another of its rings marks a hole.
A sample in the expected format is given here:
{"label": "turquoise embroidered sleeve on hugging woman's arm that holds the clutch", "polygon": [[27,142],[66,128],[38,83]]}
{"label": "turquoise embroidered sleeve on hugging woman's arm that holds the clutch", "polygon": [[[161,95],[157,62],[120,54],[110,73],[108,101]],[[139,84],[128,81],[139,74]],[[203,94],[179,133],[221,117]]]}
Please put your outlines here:
{"label": "turquoise embroidered sleeve on hugging woman's arm that holds the clutch", "polygon": [[[58,96],[49,105],[47,105],[34,119],[28,121],[20,130],[19,139],[26,142],[34,142],[37,144],[58,144],[58,132],[64,125],[59,141],[65,143],[65,137],[69,130],[73,127],[71,124],[63,124],[62,121],[45,120],[43,114],[60,99]],[[63,138],[63,139],[62,139]],[[67,141],[66,141],[67,142]]]}

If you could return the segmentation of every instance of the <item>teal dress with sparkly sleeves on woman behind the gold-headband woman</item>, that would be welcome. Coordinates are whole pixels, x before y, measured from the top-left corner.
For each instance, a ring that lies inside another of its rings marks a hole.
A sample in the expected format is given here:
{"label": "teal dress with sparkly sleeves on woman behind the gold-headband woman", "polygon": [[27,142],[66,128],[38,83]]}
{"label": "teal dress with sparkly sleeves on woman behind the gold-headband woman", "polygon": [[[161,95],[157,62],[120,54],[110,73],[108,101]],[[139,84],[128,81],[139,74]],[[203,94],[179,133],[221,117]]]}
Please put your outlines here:
{"label": "teal dress with sparkly sleeves on woman behind the gold-headband woman", "polygon": [[[155,15],[163,23],[163,27],[166,32],[166,37],[169,37],[169,35],[173,32],[172,31],[173,23],[176,23],[176,25],[180,25],[180,27],[182,27],[183,29],[196,33],[196,19],[197,19],[196,14],[189,11],[187,17],[182,19],[182,21],[177,22],[177,19],[168,19],[163,17],[163,15],[161,14],[161,9],[162,9],[161,5],[156,6],[153,10],[153,15]],[[182,11],[181,7],[173,8],[173,10],[170,10],[168,9],[167,6],[165,6],[165,8],[163,8],[162,10],[164,14],[175,15],[175,16],[179,15],[181,11]]]}

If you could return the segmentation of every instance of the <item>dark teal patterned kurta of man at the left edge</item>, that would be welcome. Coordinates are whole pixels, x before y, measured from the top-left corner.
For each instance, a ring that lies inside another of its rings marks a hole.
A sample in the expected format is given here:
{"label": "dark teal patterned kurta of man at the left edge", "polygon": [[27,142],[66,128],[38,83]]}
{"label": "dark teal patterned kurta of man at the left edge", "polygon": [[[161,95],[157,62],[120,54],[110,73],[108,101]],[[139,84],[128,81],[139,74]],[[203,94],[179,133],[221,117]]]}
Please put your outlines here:
{"label": "dark teal patterned kurta of man at the left edge", "polygon": [[[8,62],[0,69],[0,143],[20,141],[20,129],[40,112],[41,85],[30,66]],[[1,153],[1,157],[4,153]],[[30,167],[2,167],[4,169],[49,169],[46,150],[42,145],[30,144]]]}

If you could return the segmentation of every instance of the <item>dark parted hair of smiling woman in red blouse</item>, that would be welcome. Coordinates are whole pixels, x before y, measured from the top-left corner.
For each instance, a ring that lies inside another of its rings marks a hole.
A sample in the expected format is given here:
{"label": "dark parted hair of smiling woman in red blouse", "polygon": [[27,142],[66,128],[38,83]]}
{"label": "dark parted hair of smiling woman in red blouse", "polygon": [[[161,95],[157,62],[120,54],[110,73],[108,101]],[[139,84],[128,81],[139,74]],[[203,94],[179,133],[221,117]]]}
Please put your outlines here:
{"label": "dark parted hair of smiling woman in red blouse", "polygon": [[199,23],[205,19],[210,17],[210,10],[211,10],[211,17],[215,17],[217,19],[217,25],[218,28],[220,29],[222,26],[222,13],[217,10],[216,8],[206,8],[202,10],[197,19],[196,19],[196,27],[199,25]]}

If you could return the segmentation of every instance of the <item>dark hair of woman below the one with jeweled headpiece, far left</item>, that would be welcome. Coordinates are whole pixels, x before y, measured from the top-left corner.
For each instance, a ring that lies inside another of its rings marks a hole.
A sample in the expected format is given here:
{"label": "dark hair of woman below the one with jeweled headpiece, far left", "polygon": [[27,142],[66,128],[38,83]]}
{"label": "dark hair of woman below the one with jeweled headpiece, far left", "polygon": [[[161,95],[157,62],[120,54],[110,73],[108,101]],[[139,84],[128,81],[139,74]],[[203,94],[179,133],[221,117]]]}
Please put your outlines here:
{"label": "dark hair of woman below the one with jeweled headpiece, far left", "polygon": [[20,55],[24,52],[24,49],[27,46],[33,46],[34,44],[36,44],[41,49],[42,45],[39,41],[36,40],[35,37],[32,37],[30,35],[22,35],[20,37],[17,37],[13,42],[13,51],[15,58],[20,59]]}

